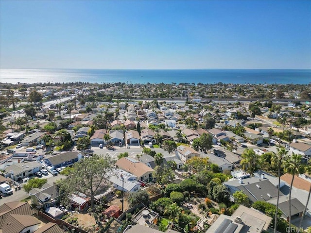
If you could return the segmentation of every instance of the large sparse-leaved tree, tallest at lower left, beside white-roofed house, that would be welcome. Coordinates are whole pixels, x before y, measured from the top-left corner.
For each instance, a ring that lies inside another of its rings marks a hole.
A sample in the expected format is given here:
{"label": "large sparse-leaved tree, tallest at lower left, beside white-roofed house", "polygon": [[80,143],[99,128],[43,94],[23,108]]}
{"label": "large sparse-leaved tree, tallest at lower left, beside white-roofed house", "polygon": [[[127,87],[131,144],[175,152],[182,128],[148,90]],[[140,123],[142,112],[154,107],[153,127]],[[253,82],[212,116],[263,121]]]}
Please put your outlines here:
{"label": "large sparse-leaved tree, tallest at lower left, beside white-roofed house", "polygon": [[63,195],[63,202],[68,201],[68,196],[81,192],[89,195],[91,209],[94,208],[94,196],[110,186],[109,177],[113,174],[113,161],[109,156],[93,155],[75,163],[69,170],[65,179],[58,180]]}

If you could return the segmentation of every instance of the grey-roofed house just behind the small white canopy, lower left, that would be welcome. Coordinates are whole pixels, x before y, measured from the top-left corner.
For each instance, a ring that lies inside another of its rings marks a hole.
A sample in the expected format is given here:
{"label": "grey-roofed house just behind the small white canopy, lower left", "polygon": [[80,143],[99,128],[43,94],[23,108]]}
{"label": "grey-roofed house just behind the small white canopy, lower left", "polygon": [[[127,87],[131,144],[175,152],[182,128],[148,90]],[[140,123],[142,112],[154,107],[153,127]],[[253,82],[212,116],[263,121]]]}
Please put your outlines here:
{"label": "grey-roofed house just behind the small white canopy, lower left", "polygon": [[60,203],[59,187],[56,184],[44,184],[40,189],[33,188],[29,195],[31,197],[31,203],[36,205],[37,209],[46,210]]}

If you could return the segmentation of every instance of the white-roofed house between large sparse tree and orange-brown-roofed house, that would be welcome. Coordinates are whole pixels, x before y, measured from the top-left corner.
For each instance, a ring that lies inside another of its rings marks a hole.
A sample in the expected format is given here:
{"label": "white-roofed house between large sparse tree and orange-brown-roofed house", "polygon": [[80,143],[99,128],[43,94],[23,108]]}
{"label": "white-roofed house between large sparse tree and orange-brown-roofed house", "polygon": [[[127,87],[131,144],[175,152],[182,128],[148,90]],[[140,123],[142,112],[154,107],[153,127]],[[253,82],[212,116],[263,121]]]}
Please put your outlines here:
{"label": "white-roofed house between large sparse tree and orange-brown-roofed house", "polygon": [[109,178],[113,183],[113,187],[124,192],[136,192],[140,190],[141,183],[137,181],[137,176],[123,171],[121,169],[114,170],[115,173]]}

